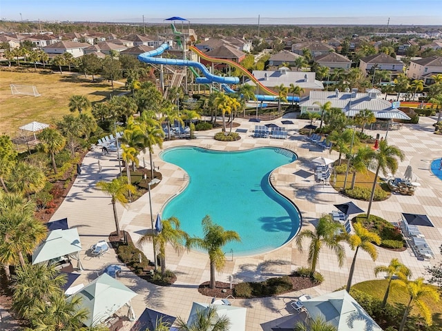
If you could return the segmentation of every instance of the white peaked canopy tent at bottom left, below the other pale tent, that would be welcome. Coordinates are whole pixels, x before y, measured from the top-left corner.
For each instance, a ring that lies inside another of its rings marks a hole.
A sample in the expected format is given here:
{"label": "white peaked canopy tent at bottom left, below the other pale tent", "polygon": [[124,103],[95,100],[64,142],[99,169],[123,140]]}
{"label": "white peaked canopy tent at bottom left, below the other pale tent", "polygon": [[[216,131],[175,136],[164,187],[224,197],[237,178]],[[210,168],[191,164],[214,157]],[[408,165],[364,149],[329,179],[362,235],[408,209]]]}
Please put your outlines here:
{"label": "white peaked canopy tent at bottom left, below the other pale tent", "polygon": [[135,320],[131,299],[133,290],[104,273],[74,295],[81,297],[80,308],[89,311],[84,325],[96,325],[111,317],[119,308],[128,305],[129,319]]}

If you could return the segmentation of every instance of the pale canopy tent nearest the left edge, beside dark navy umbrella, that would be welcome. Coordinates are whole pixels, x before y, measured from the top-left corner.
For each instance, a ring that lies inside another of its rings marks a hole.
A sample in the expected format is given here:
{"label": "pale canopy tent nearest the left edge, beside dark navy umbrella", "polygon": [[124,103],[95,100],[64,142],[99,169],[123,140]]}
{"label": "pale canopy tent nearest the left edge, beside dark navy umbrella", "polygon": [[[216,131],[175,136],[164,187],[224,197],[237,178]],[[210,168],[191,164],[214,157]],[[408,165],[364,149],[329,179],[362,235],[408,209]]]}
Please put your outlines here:
{"label": "pale canopy tent nearest the left edge, beside dark navy umbrella", "polygon": [[79,258],[81,243],[77,229],[53,230],[49,232],[48,238],[39,245],[32,253],[32,264],[68,257],[77,260],[77,268],[83,270]]}

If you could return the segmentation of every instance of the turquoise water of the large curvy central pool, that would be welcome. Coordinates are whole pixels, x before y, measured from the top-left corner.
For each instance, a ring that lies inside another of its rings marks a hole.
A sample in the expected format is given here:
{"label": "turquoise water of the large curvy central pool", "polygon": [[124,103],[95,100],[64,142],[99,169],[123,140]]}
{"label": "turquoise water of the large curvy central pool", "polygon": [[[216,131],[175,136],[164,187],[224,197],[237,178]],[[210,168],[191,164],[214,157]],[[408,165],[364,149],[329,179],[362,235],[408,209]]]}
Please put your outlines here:
{"label": "turquoise water of the large curvy central pool", "polygon": [[224,252],[235,256],[268,252],[289,241],[300,228],[295,205],[269,184],[275,168],[296,161],[296,154],[280,148],[218,152],[196,147],[165,150],[160,157],[178,165],[191,177],[187,188],[164,207],[162,218],[180,219],[182,230],[203,237],[207,214],[224,230],[240,234]]}

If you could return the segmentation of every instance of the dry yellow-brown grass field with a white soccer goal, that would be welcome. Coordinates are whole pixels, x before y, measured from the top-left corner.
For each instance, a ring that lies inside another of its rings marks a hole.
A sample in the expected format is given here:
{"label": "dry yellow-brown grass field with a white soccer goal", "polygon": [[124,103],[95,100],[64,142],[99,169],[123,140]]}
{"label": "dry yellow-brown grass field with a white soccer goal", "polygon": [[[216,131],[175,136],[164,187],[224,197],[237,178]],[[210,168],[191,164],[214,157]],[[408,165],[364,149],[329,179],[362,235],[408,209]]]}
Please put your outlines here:
{"label": "dry yellow-brown grass field with a white soccer goal", "polygon": [[[11,83],[36,86],[41,97],[12,95]],[[115,85],[114,95],[122,92],[118,90],[121,84]],[[94,103],[108,98],[111,92],[108,81],[93,82],[79,74],[0,71],[0,134],[13,138],[20,126],[32,121],[54,123],[69,113],[69,99],[74,94],[86,95]]]}

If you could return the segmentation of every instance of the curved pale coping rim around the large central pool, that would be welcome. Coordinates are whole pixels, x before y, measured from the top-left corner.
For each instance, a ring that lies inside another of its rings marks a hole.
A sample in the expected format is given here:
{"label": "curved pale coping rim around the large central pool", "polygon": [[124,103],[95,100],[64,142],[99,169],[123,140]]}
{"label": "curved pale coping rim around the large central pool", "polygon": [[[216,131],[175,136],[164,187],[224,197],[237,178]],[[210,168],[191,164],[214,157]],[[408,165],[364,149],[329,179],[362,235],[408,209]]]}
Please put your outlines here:
{"label": "curved pale coping rim around the large central pool", "polygon": [[[240,149],[240,150],[213,150],[212,148],[206,148],[206,147],[195,146],[195,145],[171,146],[169,148],[161,150],[161,152],[158,154],[158,157],[160,157],[160,159],[162,161],[164,161],[165,163],[168,163],[168,164],[176,166],[177,168],[182,170],[188,176],[188,180],[186,181],[185,185],[183,185],[180,188],[180,191],[176,192],[173,195],[171,195],[171,197],[169,197],[166,201],[164,201],[164,203],[162,203],[162,207],[160,208],[160,212],[161,213],[164,211],[164,208],[166,207],[166,205],[168,203],[170,203],[173,199],[178,197],[180,194],[182,194],[186,190],[186,188],[189,186],[189,184],[191,183],[191,176],[189,176],[189,174],[188,174],[188,172],[186,172],[186,170],[184,170],[180,166],[176,165],[175,163],[169,163],[169,162],[165,161],[162,158],[162,154],[164,154],[164,153],[166,153],[166,152],[168,152],[170,150],[177,149],[177,148],[181,148],[181,149],[198,149],[198,150],[205,150],[206,152],[213,152],[213,153],[247,152],[247,151],[251,151],[251,150],[260,150],[260,149],[267,149],[267,148],[269,148],[269,149],[286,150],[287,152],[290,152],[291,154],[293,154],[294,157],[296,158],[296,159],[294,159],[294,161],[291,161],[290,163],[287,163],[287,164],[280,165],[280,166],[274,168],[273,170],[271,170],[271,172],[269,172],[269,176],[267,176],[267,183],[269,183],[269,188],[271,188],[271,190],[273,190],[273,192],[275,194],[277,194],[282,199],[287,201],[287,203],[289,203],[296,210],[296,214],[298,215],[298,219],[299,219],[298,228],[297,228],[296,232],[294,232],[294,234],[292,234],[287,239],[287,241],[285,241],[284,243],[282,243],[280,246],[278,246],[276,248],[269,248],[269,249],[262,248],[262,250],[258,249],[255,252],[250,251],[250,252],[244,252],[243,254],[242,253],[235,254],[235,252],[233,252],[233,259],[240,259],[240,258],[247,258],[247,257],[257,257],[257,256],[260,256],[262,254],[270,254],[272,252],[276,252],[277,250],[280,250],[281,248],[285,248],[287,245],[289,245],[293,241],[293,239],[299,234],[299,232],[300,232],[300,230],[302,228],[302,214],[300,212],[300,209],[298,208],[298,206],[296,205],[296,203],[294,201],[289,199],[289,197],[287,197],[285,194],[282,194],[279,190],[276,189],[276,187],[273,185],[273,183],[271,183],[271,176],[272,176],[273,172],[275,172],[279,168],[285,167],[287,165],[291,165],[292,163],[294,163],[295,161],[298,160],[298,158],[299,158],[298,153],[294,152],[294,150],[291,150],[291,149],[285,148],[285,147],[281,147],[281,146],[258,146],[258,147],[253,147],[253,148]],[[198,253],[201,253],[201,254],[206,254],[206,252],[204,252],[203,250],[191,249],[191,251],[198,252]],[[226,255],[226,257],[228,259],[229,254],[231,254],[231,252],[224,252],[224,254]]]}

